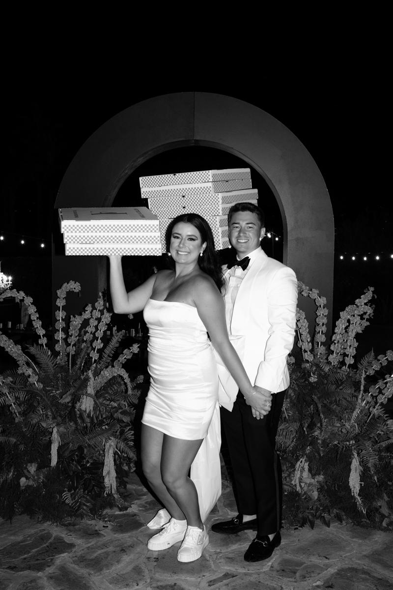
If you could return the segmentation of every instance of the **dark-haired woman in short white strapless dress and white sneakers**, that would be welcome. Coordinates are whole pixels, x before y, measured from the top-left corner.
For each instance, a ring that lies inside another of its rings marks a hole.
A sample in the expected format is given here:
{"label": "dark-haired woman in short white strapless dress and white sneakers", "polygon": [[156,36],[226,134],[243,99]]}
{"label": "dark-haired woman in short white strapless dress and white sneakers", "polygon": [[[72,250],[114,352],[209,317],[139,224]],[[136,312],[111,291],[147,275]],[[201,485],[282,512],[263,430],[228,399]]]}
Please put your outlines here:
{"label": "dark-haired woman in short white strapless dress and white sneakers", "polygon": [[127,293],[121,256],[110,256],[110,289],[115,313],[143,310],[149,329],[150,389],[141,460],[171,518],[147,546],[161,550],[182,541],[177,559],[191,562],[209,543],[197,489],[188,477],[217,406],[219,381],[207,332],[245,398],[255,389],[227,334],[210,225],[197,214],[179,215],[170,223],[166,241],[173,270],[159,271]]}

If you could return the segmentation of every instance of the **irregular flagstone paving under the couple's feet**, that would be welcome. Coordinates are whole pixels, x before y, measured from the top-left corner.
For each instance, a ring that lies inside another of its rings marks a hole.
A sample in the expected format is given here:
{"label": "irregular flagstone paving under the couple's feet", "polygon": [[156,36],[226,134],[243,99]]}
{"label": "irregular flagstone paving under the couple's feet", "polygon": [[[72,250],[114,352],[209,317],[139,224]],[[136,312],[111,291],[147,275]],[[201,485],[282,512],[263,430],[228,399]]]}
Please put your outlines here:
{"label": "irregular flagstone paving under the couple's feet", "polygon": [[[63,527],[18,516],[0,521],[0,590],[388,590],[393,588],[393,539],[389,533],[316,523],[282,531],[272,557],[246,563],[243,554],[251,531],[227,536],[209,534],[202,558],[176,559],[180,543],[166,551],[149,551],[153,533],[146,523],[160,506],[134,473],[127,512],[111,512],[113,522],[82,521]],[[223,494],[207,520],[236,514],[232,489]]]}

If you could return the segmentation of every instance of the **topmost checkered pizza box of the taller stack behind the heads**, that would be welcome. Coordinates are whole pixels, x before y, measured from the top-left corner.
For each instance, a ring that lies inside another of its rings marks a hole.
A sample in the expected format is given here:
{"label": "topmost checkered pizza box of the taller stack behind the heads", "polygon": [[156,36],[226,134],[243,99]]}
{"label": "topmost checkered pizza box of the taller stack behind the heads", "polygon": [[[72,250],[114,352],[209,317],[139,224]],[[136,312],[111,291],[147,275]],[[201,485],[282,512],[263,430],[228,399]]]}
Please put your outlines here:
{"label": "topmost checkered pizza box of the taller stack behind the heads", "polygon": [[248,179],[251,188],[251,173],[249,168],[229,168],[224,170],[203,170],[200,172],[179,172],[175,174],[160,174],[156,176],[141,176],[140,188],[154,186],[171,186],[179,184],[198,184],[201,182],[221,182],[237,179]]}

